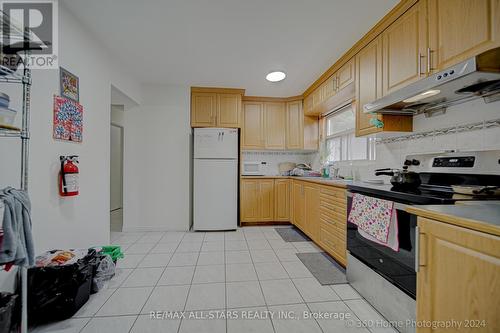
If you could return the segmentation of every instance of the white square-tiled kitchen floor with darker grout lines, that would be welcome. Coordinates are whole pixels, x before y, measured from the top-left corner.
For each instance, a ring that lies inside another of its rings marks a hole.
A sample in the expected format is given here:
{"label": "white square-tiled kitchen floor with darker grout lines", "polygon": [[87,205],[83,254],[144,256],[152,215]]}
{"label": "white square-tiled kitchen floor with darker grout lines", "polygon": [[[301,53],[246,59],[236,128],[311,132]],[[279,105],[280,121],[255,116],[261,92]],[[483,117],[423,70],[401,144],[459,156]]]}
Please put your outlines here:
{"label": "white square-tiled kitchen floor with darker grout lines", "polygon": [[[305,318],[304,312],[315,312],[348,314],[355,323],[384,320],[348,284],[320,285],[295,255],[319,249],[310,242],[284,242],[273,227],[226,233],[112,232],[112,243],[121,245],[126,257],[108,289],[92,295],[73,318],[33,332],[395,332],[348,327],[341,319]],[[196,318],[150,318],[150,311],[190,310]],[[233,318],[200,319],[217,311],[231,311]]]}

